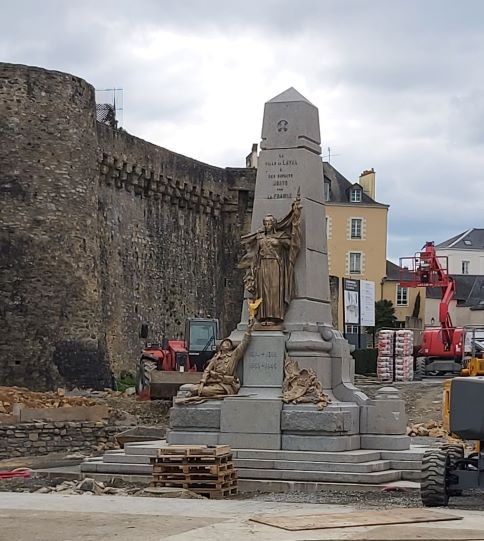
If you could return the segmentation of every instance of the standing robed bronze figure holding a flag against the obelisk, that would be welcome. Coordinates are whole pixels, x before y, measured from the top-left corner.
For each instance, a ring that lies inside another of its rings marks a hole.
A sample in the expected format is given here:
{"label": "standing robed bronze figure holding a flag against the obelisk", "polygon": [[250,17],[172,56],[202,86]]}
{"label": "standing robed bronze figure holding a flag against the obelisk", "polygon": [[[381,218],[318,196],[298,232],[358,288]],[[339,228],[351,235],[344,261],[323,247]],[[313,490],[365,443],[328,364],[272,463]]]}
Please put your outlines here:
{"label": "standing robed bronze figure holding a flag against the obelisk", "polygon": [[297,196],[281,221],[268,214],[264,228],[242,237],[247,253],[239,268],[246,269],[244,285],[252,298],[261,298],[257,319],[278,325],[294,296],[294,265],[301,246],[301,204]]}

